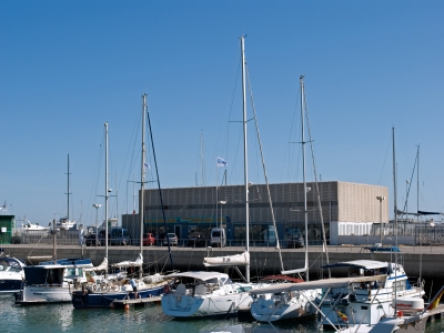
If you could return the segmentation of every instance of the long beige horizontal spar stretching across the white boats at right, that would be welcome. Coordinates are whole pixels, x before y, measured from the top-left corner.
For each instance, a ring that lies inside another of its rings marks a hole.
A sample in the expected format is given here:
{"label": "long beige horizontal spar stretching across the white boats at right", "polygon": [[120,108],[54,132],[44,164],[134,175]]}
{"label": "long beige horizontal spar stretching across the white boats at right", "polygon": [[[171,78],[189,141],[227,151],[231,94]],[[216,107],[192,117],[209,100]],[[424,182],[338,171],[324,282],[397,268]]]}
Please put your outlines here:
{"label": "long beige horizontal spar stretching across the white boats at right", "polygon": [[373,275],[373,276],[359,276],[359,278],[337,278],[337,279],[324,279],[300,283],[279,283],[274,286],[256,289],[250,292],[251,295],[293,292],[302,290],[313,289],[326,289],[326,287],[347,287],[351,283],[372,282],[372,281],[385,281],[386,275]]}

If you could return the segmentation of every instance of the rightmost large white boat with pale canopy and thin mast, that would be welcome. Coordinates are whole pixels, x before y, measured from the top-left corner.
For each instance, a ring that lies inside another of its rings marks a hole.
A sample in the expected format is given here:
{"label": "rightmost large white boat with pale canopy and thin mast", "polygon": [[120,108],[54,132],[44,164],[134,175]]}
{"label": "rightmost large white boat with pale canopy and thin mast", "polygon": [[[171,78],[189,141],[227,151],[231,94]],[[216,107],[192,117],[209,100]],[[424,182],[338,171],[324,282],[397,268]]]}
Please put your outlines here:
{"label": "rightmost large white boat with pale canopy and thin mast", "polygon": [[[397,224],[394,129],[392,132],[394,212]],[[395,248],[397,249],[397,232],[395,236]],[[379,325],[382,317],[393,317],[398,312],[424,309],[422,300],[424,281],[420,275],[417,282],[410,283],[404,268],[397,262],[397,251],[394,252],[394,263],[357,260],[330,264],[330,268],[347,268],[350,276],[371,278],[372,275],[384,274],[386,280],[379,284],[363,282],[350,283],[345,287],[325,287],[323,296],[319,301],[320,324],[324,326],[334,325],[337,331],[369,332],[371,327],[374,326],[375,329]],[[382,326],[379,326],[379,330],[382,330]]]}

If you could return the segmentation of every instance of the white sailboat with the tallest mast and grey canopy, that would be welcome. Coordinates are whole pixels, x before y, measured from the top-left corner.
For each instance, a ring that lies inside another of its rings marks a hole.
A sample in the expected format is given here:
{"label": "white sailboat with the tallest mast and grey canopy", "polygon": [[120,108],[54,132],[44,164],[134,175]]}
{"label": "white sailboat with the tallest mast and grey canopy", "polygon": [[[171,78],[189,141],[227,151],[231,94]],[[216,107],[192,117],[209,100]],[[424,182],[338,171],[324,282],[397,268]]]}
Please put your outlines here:
{"label": "white sailboat with the tallest mast and grey canopy", "polygon": [[244,139],[244,186],[245,186],[245,234],[246,249],[242,254],[204,258],[203,264],[212,266],[245,266],[245,283],[234,283],[225,273],[198,271],[167,275],[176,281],[161,299],[163,313],[175,317],[202,317],[235,315],[240,309],[249,307],[252,297],[249,291],[258,287],[250,283],[249,252],[249,181],[246,159],[246,100],[244,37],[241,37],[243,139]]}

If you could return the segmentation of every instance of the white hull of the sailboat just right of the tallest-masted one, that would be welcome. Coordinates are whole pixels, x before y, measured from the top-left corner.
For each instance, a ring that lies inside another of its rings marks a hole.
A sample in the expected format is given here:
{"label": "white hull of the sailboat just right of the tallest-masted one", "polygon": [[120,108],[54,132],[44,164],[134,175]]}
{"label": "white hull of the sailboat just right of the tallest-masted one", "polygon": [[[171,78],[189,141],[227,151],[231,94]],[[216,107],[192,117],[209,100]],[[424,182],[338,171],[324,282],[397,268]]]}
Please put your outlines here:
{"label": "white hull of the sailboat just right of the tallest-masted one", "polygon": [[251,315],[260,322],[275,322],[290,319],[306,317],[316,314],[311,302],[322,293],[322,290],[304,290],[276,294],[261,294],[251,304]]}

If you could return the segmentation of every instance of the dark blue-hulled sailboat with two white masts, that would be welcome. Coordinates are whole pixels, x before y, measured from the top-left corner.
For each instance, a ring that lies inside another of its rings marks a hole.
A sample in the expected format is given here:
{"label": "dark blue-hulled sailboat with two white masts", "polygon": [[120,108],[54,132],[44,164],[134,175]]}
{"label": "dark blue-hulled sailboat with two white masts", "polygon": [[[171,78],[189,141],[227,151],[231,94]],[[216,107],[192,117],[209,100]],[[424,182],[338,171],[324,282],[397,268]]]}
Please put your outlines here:
{"label": "dark blue-hulled sailboat with two white masts", "polygon": [[[143,195],[143,183],[144,183],[144,120],[147,111],[147,94],[142,95],[142,171],[141,171],[141,195]],[[105,125],[105,221],[108,221],[108,123]],[[143,196],[141,198],[143,202]],[[115,300],[128,300],[128,299],[145,299],[152,296],[160,296],[167,285],[164,276],[154,274],[150,276],[142,276],[143,273],[143,209],[141,212],[141,240],[140,240],[140,254],[135,261],[123,261],[117,264],[112,264],[114,268],[138,268],[139,279],[135,276],[131,280],[128,278],[122,279],[91,279],[87,283],[82,284],[79,290],[72,293],[72,305],[75,309],[88,309],[88,307],[109,307]],[[105,253],[108,258],[108,223],[105,223]],[[107,265],[101,264],[103,268]],[[137,293],[133,292],[134,284],[137,286]]]}

